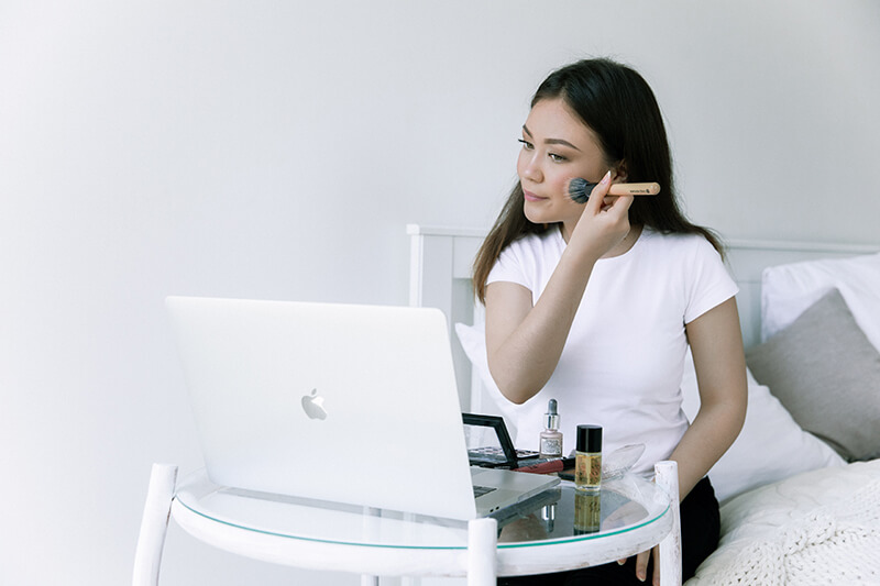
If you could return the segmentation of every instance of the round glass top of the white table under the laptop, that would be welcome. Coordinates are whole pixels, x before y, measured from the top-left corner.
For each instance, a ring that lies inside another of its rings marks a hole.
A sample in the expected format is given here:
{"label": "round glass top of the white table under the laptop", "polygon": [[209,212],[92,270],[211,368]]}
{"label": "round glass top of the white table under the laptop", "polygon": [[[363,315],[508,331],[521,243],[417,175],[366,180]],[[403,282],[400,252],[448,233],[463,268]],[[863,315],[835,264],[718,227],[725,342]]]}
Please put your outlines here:
{"label": "round glass top of the white table under the laptop", "polygon": [[[396,549],[465,549],[468,523],[399,511],[253,493],[212,484],[204,469],[178,485],[177,502],[199,517],[280,538]],[[498,548],[602,539],[657,522],[669,498],[627,475],[586,494],[562,482],[495,513]]]}

